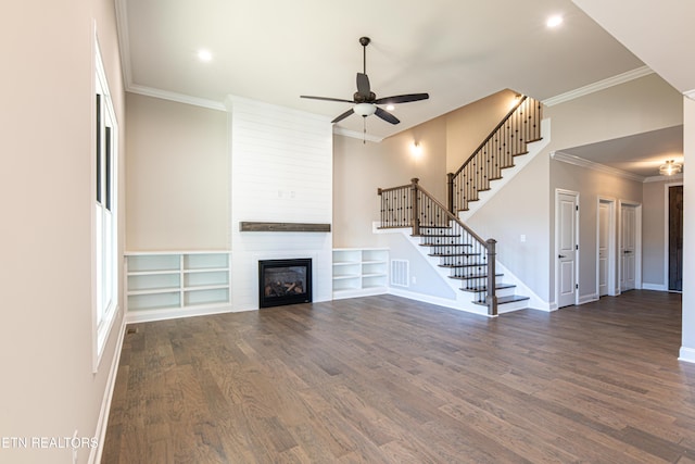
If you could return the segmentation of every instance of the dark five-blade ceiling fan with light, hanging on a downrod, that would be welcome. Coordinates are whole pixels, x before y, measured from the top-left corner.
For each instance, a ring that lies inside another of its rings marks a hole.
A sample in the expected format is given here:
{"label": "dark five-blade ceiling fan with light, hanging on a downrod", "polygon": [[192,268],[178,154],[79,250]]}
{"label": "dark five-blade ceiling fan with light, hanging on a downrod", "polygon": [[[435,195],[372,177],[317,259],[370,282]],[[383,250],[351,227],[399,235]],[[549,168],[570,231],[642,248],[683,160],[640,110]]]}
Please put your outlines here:
{"label": "dark five-blade ceiling fan with light, hanging on a downrod", "polygon": [[399,124],[397,117],[388,111],[377,106],[378,104],[393,104],[393,103],[407,103],[410,101],[418,100],[427,100],[430,98],[429,93],[407,93],[407,95],[399,95],[393,97],[384,97],[377,98],[376,93],[371,91],[371,87],[369,86],[369,77],[367,77],[367,46],[371,39],[369,37],[361,37],[359,43],[363,47],[363,66],[364,72],[357,73],[357,91],[352,96],[352,100],[345,100],[340,98],[329,98],[329,97],[312,97],[312,96],[300,96],[301,98],[311,98],[314,100],[327,100],[327,101],[338,101],[344,103],[354,103],[354,105],[336,117],[331,123],[338,123],[351,114],[355,113],[363,117],[370,116],[376,114],[381,120],[391,123]]}

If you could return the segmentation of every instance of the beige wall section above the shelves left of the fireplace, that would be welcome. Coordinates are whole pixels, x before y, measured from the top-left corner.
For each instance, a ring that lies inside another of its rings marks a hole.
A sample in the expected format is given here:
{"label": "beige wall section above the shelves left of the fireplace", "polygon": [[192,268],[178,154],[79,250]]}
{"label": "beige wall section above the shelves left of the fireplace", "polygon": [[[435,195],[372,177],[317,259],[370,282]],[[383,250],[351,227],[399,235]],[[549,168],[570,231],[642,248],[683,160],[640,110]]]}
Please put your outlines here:
{"label": "beige wall section above the shelves left of the fireplace", "polygon": [[230,247],[227,113],[127,96],[128,251]]}

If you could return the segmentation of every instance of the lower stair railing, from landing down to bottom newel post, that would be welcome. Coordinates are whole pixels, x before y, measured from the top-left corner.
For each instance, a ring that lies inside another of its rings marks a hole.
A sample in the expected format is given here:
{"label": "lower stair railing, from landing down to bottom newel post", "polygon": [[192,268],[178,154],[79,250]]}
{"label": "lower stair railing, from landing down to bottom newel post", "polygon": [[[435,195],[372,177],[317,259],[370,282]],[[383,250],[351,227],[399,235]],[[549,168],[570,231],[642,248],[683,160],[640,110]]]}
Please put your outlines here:
{"label": "lower stair railing, from landing down to bottom newel post", "polygon": [[462,279],[464,289],[476,292],[489,315],[497,315],[496,241],[483,240],[418,181],[414,178],[408,185],[377,190],[381,197],[380,228],[412,227],[413,236],[427,237],[444,266],[452,268],[452,278]]}

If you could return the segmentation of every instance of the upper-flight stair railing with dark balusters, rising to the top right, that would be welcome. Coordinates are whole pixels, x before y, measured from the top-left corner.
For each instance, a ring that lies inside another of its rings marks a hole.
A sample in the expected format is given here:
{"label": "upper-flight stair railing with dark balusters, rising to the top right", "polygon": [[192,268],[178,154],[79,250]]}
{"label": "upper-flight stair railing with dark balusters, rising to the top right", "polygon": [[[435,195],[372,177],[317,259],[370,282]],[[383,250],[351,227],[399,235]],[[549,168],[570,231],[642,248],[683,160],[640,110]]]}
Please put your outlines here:
{"label": "upper-flight stair railing with dark balusters, rising to the top right", "polygon": [[447,209],[467,211],[478,192],[490,189],[490,180],[502,178],[502,170],[514,166],[514,156],[527,152],[527,143],[541,139],[541,102],[522,96],[488,138],[447,177]]}

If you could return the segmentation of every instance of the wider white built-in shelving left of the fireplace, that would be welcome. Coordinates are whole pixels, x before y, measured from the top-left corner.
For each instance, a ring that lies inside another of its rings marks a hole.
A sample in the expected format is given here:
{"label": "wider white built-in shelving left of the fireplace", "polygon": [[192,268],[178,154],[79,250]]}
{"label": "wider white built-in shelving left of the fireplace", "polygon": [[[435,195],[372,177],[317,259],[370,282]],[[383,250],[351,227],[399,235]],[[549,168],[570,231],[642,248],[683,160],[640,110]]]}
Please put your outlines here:
{"label": "wider white built-in shelving left of the fireplace", "polygon": [[230,310],[228,251],[127,252],[127,321]]}

